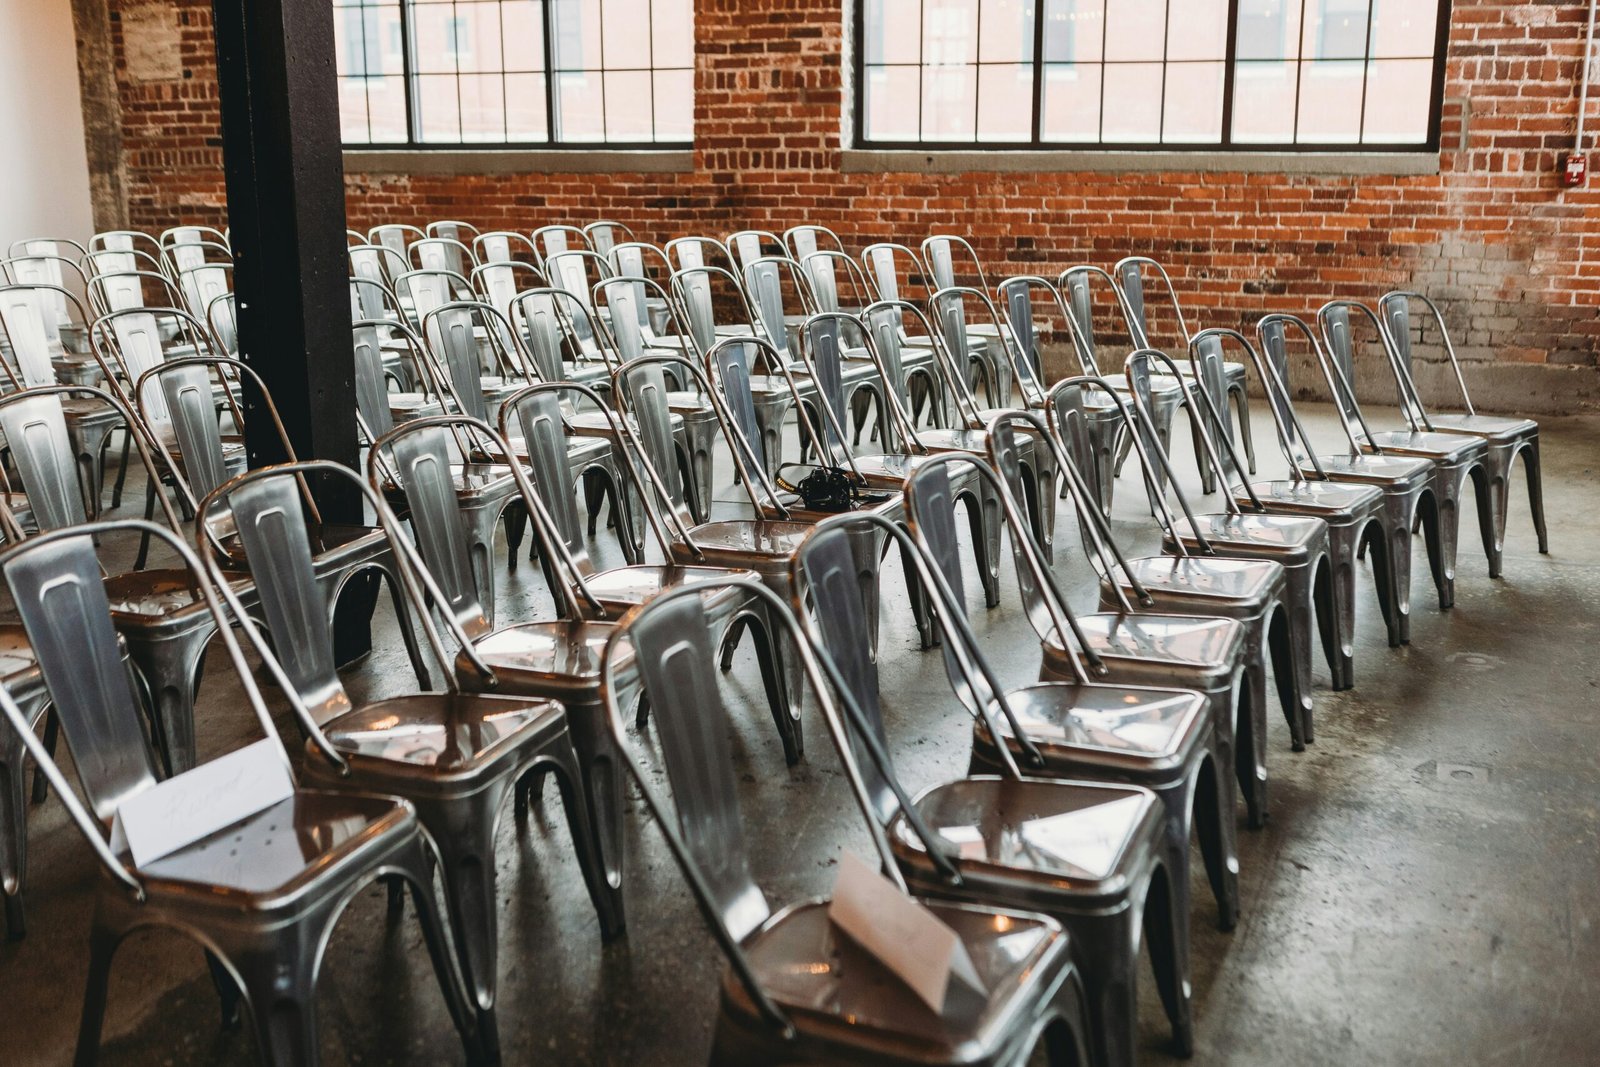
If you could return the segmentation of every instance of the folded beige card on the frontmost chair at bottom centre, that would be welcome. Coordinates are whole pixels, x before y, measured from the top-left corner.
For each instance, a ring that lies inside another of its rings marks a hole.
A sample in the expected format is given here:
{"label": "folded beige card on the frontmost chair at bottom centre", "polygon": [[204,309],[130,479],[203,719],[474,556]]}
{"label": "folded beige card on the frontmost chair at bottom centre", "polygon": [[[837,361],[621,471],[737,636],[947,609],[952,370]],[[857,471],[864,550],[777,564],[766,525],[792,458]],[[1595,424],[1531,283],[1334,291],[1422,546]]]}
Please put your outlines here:
{"label": "folded beige card on the frontmost chair at bottom centre", "polygon": [[986,992],[955,931],[854,853],[838,861],[827,917],[939,1014],[952,981]]}

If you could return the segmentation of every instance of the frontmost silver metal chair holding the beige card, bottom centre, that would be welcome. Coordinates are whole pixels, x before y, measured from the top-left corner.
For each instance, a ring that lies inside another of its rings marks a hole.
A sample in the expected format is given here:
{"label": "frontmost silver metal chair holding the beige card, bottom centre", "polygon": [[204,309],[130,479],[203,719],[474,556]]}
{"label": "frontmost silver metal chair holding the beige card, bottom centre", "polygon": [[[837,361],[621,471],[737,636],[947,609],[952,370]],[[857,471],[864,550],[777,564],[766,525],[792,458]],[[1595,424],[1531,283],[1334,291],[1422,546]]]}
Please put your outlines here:
{"label": "frontmost silver metal chair holding the beige card, bottom centre", "polygon": [[[774,617],[784,621],[789,640],[802,649],[813,686],[827,693],[816,657],[782,603],[757,582],[723,581],[771,601]],[[614,744],[627,757],[624,763],[728,958],[710,1062],[1021,1067],[1042,1040],[1051,1064],[1090,1062],[1082,981],[1067,936],[1054,920],[928,902],[962,939],[989,990],[936,1014],[882,963],[832,929],[826,899],[773,910],[750,873],[726,736],[728,709],[712,662],[706,608],[690,589],[629,613],[605,651]],[[656,709],[670,801],[658,795],[626,734],[627,704],[619,697],[635,678]],[[830,715],[829,721],[837,718]],[[850,742],[837,741],[845,752]],[[851,763],[845,766],[848,774]],[[877,817],[870,809],[864,814],[878,862],[904,891],[906,880]],[[926,853],[942,854],[944,845],[933,833],[918,840]]]}

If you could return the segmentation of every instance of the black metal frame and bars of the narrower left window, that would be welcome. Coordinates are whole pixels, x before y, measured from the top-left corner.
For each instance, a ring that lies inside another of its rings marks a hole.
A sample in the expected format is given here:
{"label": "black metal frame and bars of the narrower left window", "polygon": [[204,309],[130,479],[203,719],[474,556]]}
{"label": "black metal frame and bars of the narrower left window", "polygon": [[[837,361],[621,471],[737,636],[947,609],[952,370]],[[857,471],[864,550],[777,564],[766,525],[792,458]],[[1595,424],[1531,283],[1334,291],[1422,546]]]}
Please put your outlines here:
{"label": "black metal frame and bars of the narrower left window", "polygon": [[[501,154],[504,154],[504,152],[664,152],[664,154],[667,154],[667,152],[683,152],[686,149],[693,149],[694,147],[693,133],[685,141],[611,141],[611,139],[606,139],[603,134],[598,139],[590,139],[590,141],[558,141],[558,139],[555,139],[555,133],[557,133],[557,128],[558,128],[555,80],[560,77],[560,74],[563,74],[562,70],[555,69],[555,38],[554,38],[554,34],[555,34],[555,26],[557,26],[557,11],[555,11],[555,8],[557,8],[558,0],[539,0],[541,24],[542,24],[542,29],[544,29],[544,32],[542,32],[542,38],[544,38],[542,40],[542,58],[544,58],[544,72],[542,72],[542,77],[544,77],[544,130],[546,130],[546,139],[544,141],[512,141],[512,139],[506,139],[506,141],[464,141],[464,139],[458,139],[458,141],[422,141],[419,138],[421,130],[418,126],[419,93],[421,93],[419,75],[421,75],[421,72],[416,69],[418,67],[416,43],[414,43],[414,32],[413,32],[413,27],[411,27],[411,8],[418,2],[419,0],[397,0],[398,14],[400,14],[400,70],[397,74],[373,75],[370,72],[363,72],[360,75],[347,75],[347,74],[336,74],[334,75],[341,83],[346,78],[352,78],[352,80],[371,80],[374,77],[395,77],[395,78],[398,78],[400,83],[405,88],[405,128],[406,128],[406,139],[405,141],[346,141],[344,134],[342,134],[342,128],[341,128],[339,139],[341,139],[341,147],[346,152],[371,152],[371,154],[389,154],[389,152],[442,152],[442,154],[462,154],[462,152],[469,152],[469,154],[470,152],[501,152]],[[421,2],[426,2],[426,0],[421,0]],[[462,0],[462,2],[469,2],[469,0]],[[603,3],[603,0],[600,0],[600,2]],[[333,0],[330,0],[330,3],[333,3]],[[357,10],[357,11],[363,11],[365,13],[368,10],[368,0],[357,0],[357,3],[350,5],[350,6],[342,6],[342,5],[341,6],[334,6],[336,13],[338,11],[349,11],[349,10]],[[378,8],[373,8],[373,10],[378,10]],[[690,10],[693,11],[693,5],[690,6]],[[451,14],[453,16],[456,14],[454,13],[454,5],[451,5]],[[363,14],[363,18],[365,18],[365,14]],[[654,34],[653,34],[654,18],[656,18],[656,5],[651,3],[650,5],[651,48],[654,48]],[[502,45],[502,48],[504,48],[504,45]],[[602,54],[603,54],[603,46],[602,46]],[[690,69],[690,74],[693,77],[693,72],[694,72],[693,53],[691,53],[690,59],[691,59],[691,66],[688,69]],[[658,70],[683,70],[683,67],[656,67],[654,66],[654,53],[651,51],[651,66],[646,67],[646,69],[643,69],[643,70],[646,70],[648,74],[654,75]],[[501,72],[501,74],[504,77],[504,72]],[[605,74],[605,70],[603,69],[595,69],[595,70],[590,70],[589,74],[600,75],[600,74]],[[459,86],[458,86],[458,93],[459,93]],[[691,107],[693,107],[693,93],[694,93],[694,90],[691,86],[691,96],[690,96]],[[602,109],[603,109],[603,104],[602,104]],[[603,125],[603,115],[605,115],[605,112],[602,110],[602,125]],[[651,118],[651,122],[654,123],[654,117]],[[371,130],[371,117],[370,115],[368,115],[368,130]]]}

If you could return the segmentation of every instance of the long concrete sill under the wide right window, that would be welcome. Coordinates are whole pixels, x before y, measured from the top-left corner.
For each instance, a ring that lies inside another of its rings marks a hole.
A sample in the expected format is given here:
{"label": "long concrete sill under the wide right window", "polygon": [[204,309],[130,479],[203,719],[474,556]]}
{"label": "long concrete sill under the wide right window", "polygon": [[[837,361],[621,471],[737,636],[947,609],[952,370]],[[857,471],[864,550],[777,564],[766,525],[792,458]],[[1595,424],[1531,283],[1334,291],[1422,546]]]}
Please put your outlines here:
{"label": "long concrete sill under the wide right window", "polygon": [[853,174],[1027,174],[1181,171],[1262,174],[1437,174],[1438,152],[1082,152],[845,149]]}

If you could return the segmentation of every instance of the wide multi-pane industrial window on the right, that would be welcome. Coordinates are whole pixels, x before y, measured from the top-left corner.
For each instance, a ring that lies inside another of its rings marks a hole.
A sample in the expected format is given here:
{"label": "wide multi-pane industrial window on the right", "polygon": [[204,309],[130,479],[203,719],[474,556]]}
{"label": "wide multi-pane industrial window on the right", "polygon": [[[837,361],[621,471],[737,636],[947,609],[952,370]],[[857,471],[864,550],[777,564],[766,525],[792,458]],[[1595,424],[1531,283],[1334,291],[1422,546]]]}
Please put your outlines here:
{"label": "wide multi-pane industrial window on the right", "polygon": [[1437,149],[1448,0],[858,0],[861,147]]}

